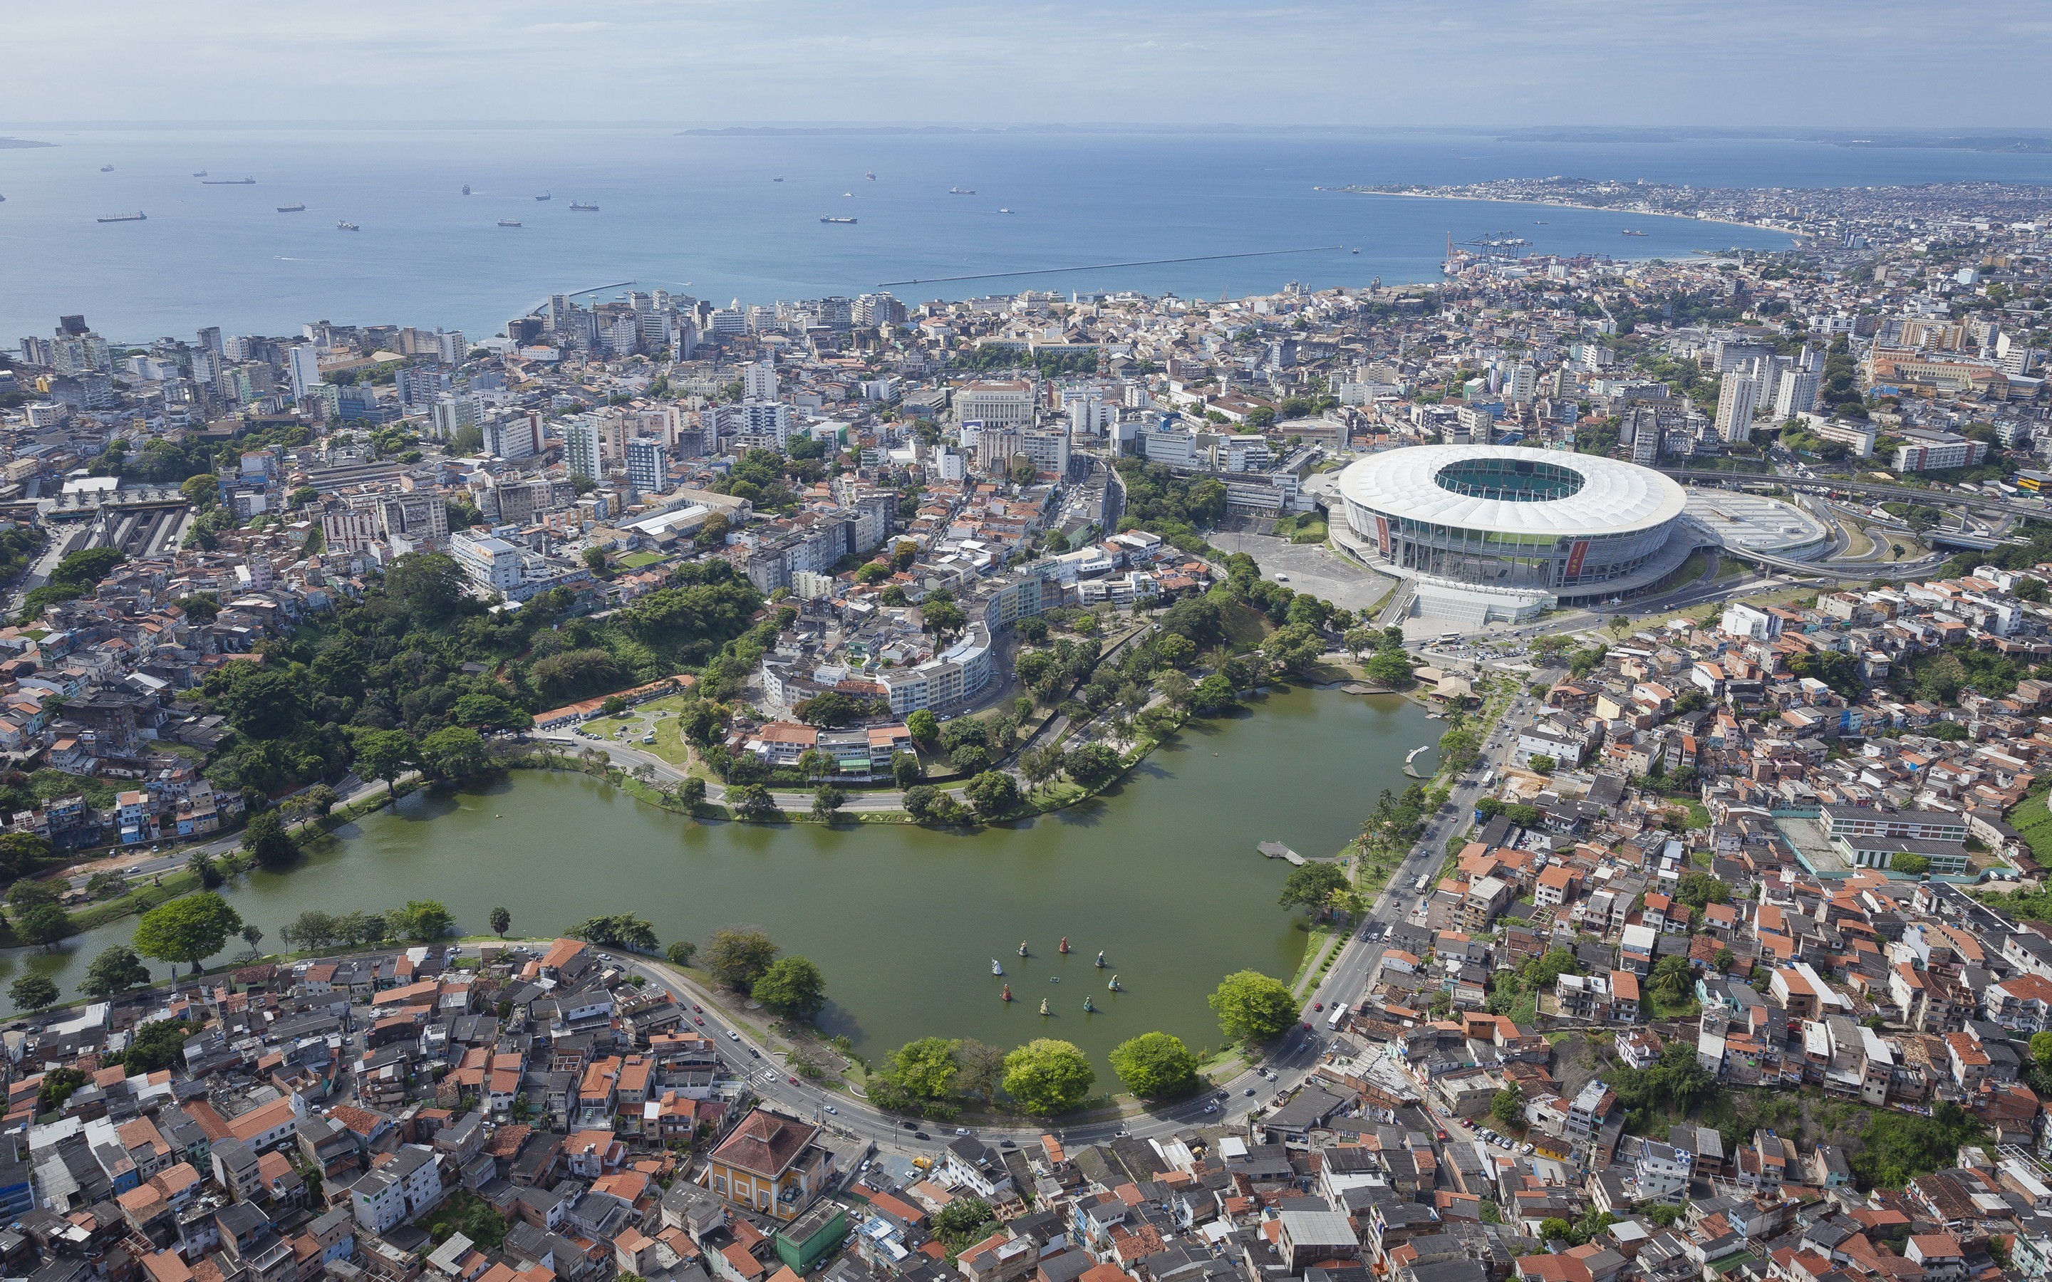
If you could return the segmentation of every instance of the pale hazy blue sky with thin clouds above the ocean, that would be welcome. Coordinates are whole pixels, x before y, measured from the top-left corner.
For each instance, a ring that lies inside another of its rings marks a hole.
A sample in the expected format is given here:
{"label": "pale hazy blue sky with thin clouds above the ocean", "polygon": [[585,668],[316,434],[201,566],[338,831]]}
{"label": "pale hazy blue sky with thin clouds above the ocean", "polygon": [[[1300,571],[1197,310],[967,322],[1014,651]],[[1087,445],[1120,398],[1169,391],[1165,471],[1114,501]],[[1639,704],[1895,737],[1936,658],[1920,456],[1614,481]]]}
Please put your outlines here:
{"label": "pale hazy blue sky with thin clouds above the ocean", "polygon": [[2052,125],[2052,6],[16,4],[0,123]]}

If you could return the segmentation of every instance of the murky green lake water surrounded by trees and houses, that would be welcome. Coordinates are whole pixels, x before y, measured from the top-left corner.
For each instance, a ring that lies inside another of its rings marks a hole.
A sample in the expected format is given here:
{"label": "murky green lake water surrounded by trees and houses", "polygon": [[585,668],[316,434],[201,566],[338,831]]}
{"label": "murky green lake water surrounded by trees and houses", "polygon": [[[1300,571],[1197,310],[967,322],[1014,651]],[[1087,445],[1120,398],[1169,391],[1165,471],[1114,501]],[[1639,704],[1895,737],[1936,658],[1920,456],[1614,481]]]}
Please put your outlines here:
{"label": "murky green lake water surrounded by trees and houses", "polygon": [[[759,925],[819,962],[831,997],[821,1024],[866,1056],[925,1034],[999,1046],[1059,1036],[1108,1081],[1104,1054],[1135,1034],[1217,1044],[1205,995],[1219,976],[1293,974],[1305,933],[1301,913],[1276,905],[1289,866],[1254,845],[1338,851],[1383,788],[1406,786],[1404,755],[1438,732],[1397,697],[1291,689],[1188,726],[1102,798],[977,833],[702,825],[585,775],[517,771],[408,796],[312,845],[300,868],[224,892],[267,946],[306,909],[408,898],[443,900],[466,933],[486,931],[492,905],[513,913],[517,935],[597,913],[638,913],[665,942]],[[86,962],[131,933],[125,919],[57,954],[4,954],[0,985],[33,968],[74,997]],[[1098,950],[1108,970],[1096,970]],[[991,976],[991,958],[1005,978]],[[1110,972],[1122,993],[1106,991]],[[999,1001],[1005,983],[1012,1005]],[[1083,1013],[1086,995],[1098,1013]],[[1042,997],[1051,1017],[1038,1015]]]}

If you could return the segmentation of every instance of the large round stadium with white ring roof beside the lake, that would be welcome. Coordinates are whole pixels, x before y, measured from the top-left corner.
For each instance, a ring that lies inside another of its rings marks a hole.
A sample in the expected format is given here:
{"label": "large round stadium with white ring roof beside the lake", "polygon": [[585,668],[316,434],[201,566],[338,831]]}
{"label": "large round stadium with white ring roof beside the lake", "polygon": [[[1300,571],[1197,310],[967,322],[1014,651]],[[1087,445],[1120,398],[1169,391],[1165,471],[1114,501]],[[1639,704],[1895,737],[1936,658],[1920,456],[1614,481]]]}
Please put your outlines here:
{"label": "large round stadium with white ring roof beside the lake", "polygon": [[1416,445],[1348,466],[1338,496],[1420,613],[1527,619],[1648,589],[1703,539],[1670,478],[1588,453]]}

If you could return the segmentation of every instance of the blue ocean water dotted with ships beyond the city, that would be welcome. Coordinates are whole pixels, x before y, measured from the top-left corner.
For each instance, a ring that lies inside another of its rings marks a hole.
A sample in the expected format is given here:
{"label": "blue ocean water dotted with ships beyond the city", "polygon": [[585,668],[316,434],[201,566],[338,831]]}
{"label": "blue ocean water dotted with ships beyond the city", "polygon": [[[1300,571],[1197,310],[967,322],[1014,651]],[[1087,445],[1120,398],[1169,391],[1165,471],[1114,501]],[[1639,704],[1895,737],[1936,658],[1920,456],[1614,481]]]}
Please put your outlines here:
{"label": "blue ocean water dotted with ships beyond the city", "polygon": [[[913,304],[1028,287],[1215,299],[1285,281],[1430,281],[1449,236],[1508,232],[1531,252],[1635,258],[1789,244],[1693,219],[1315,191],[1340,185],[1543,174],[1746,187],[2052,181],[2052,156],[1775,139],[669,127],[0,125],[0,133],[57,144],[0,150],[6,347],[78,312],[121,343],[191,338],[209,324],[287,334],[308,320],[484,336],[548,293],[628,281],[720,304],[856,295],[886,281],[917,281],[891,285]],[[205,187],[197,170],[256,183]],[[573,211],[573,201],[599,209]],[[306,211],[275,211],[291,203]],[[148,222],[94,222],[127,211]],[[827,215],[858,222],[823,224]],[[361,230],[339,230],[339,219]],[[1625,238],[1623,228],[1648,236]],[[1182,261],[1153,263],[1161,258]],[[1051,271],[1071,267],[1090,271]],[[1022,275],[936,279],[985,273]]]}

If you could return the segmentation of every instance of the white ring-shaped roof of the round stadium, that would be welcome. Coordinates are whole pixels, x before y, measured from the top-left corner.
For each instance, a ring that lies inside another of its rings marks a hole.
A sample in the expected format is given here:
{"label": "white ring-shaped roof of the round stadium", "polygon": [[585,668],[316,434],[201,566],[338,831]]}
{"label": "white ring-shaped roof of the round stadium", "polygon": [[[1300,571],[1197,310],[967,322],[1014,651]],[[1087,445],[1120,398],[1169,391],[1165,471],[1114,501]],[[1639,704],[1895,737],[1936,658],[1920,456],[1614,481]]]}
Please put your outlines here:
{"label": "white ring-shaped roof of the round stadium", "polygon": [[[1434,476],[1449,464],[1512,459],[1562,468],[1582,478],[1564,498],[1529,503],[1479,498],[1441,488]],[[1502,533],[1599,535],[1650,529],[1672,521],[1687,492],[1670,478],[1592,453],[1525,449],[1521,445],[1412,445],[1350,464],[1340,494],[1389,517],[1490,529]]]}

